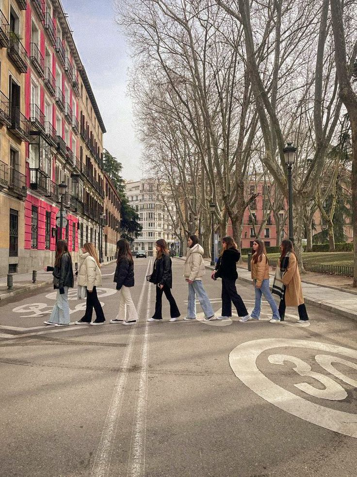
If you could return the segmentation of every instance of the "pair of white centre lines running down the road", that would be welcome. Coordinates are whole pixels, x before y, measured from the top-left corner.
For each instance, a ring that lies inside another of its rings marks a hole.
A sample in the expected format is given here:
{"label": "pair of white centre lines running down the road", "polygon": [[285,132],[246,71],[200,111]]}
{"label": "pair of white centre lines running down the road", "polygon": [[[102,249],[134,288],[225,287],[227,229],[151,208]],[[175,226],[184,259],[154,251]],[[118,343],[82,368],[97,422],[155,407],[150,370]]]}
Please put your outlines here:
{"label": "pair of white centre lines running down the road", "polygon": [[[151,267],[152,258],[147,265],[146,274]],[[137,307],[138,316],[141,316],[141,308],[145,295],[147,282],[143,284],[140,293],[139,303]],[[150,302],[150,291],[148,292],[147,303]],[[146,312],[146,318],[149,314],[149,307]],[[128,345],[123,356],[121,369],[116,378],[113,395],[107,417],[105,420],[103,432],[100,438],[96,458],[94,460],[91,477],[106,477],[109,474],[110,461],[113,452],[114,439],[118,426],[121,407],[124,400],[124,392],[128,379],[128,369],[130,366],[130,358],[133,350],[134,338],[137,326],[131,328]],[[130,456],[128,463],[128,476],[137,477],[144,475],[145,467],[145,435],[146,435],[146,396],[147,396],[147,365],[148,365],[148,323],[145,326],[145,335],[142,347],[142,371],[139,377],[139,389],[136,400],[135,430],[130,446]]]}

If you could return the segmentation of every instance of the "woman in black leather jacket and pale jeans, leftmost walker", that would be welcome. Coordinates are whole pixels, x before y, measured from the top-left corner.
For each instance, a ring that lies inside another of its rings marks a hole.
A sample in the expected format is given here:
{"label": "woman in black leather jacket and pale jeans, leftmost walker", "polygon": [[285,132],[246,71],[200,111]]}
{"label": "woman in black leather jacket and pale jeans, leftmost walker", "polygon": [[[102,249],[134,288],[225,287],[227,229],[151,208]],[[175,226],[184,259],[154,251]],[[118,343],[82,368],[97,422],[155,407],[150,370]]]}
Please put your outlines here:
{"label": "woman in black leather jacket and pale jeans, leftmost walker", "polygon": [[53,288],[57,290],[57,295],[51,316],[44,323],[45,325],[68,326],[70,321],[68,289],[73,288],[74,280],[72,258],[65,240],[57,242],[54,266],[48,266],[47,271],[52,272]]}

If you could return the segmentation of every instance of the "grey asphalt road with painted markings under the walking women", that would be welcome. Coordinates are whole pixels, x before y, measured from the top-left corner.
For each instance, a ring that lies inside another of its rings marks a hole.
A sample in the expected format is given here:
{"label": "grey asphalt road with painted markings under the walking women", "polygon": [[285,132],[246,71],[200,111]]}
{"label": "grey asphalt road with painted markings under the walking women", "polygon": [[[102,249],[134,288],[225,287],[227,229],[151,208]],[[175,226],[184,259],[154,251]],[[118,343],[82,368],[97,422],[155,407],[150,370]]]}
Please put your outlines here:
{"label": "grey asphalt road with painted markings under the walking women", "polygon": [[[0,304],[0,476],[355,476],[356,322],[309,306],[308,326],[295,309],[271,324],[266,304],[259,322],[183,321],[174,259],[181,318],[168,321],[164,300],[166,318],[148,323],[150,260],[135,260],[135,326],[109,324],[114,265],[98,293],[104,326],[45,327],[51,287]],[[250,311],[253,287],[237,284]],[[74,296],[71,321],[83,313]]]}

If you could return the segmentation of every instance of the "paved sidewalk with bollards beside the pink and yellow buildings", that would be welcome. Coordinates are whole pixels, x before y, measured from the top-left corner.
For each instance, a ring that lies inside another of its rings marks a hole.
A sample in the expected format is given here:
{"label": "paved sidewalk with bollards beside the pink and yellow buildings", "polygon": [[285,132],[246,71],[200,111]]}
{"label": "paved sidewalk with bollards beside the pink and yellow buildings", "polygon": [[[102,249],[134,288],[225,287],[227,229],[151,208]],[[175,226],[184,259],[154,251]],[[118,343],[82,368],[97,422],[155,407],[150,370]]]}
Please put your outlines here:
{"label": "paved sidewalk with bollards beside the pink and yellow buildings", "polygon": [[[105,262],[102,266],[111,265],[114,262]],[[36,283],[32,283],[32,272],[13,273],[13,288],[7,289],[7,277],[0,277],[0,302],[36,288],[49,285],[53,282],[52,272],[45,272],[43,269],[37,270]]]}

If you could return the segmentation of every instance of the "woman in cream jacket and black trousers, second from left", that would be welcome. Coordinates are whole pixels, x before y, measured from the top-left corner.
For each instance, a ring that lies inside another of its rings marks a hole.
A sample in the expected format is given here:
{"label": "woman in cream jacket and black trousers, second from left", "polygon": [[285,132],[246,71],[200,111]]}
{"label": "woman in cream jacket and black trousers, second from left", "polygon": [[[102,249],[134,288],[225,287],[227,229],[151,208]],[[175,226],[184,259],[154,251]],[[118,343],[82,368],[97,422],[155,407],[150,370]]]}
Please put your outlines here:
{"label": "woman in cream jacket and black trousers, second from left", "polygon": [[[102,305],[98,300],[97,286],[102,284],[102,274],[97,250],[93,244],[87,242],[83,245],[78,266],[78,286],[87,289],[87,302],[84,317],[76,321],[76,325],[90,324],[103,325],[105,318]],[[96,311],[96,319],[92,321],[93,308]]]}

